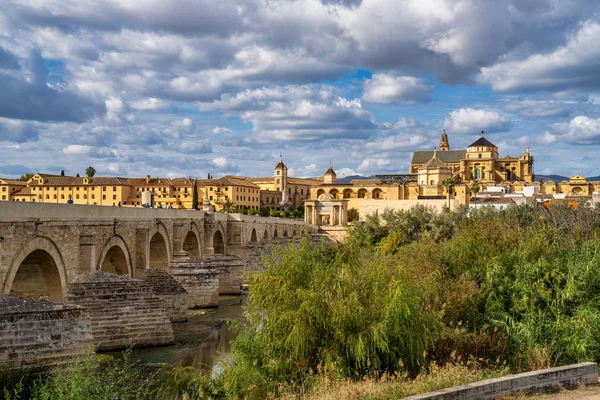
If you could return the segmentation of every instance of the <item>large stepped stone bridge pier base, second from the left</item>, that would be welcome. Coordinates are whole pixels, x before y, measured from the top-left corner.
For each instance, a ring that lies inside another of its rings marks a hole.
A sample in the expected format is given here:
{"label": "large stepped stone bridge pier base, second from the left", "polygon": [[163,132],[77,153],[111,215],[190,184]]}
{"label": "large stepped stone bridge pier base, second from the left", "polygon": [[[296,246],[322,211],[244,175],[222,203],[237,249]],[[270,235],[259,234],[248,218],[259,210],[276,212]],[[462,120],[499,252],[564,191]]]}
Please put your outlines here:
{"label": "large stepped stone bridge pier base, second from the left", "polygon": [[71,282],[65,300],[89,310],[98,350],[173,343],[165,306],[143,280],[95,272]]}

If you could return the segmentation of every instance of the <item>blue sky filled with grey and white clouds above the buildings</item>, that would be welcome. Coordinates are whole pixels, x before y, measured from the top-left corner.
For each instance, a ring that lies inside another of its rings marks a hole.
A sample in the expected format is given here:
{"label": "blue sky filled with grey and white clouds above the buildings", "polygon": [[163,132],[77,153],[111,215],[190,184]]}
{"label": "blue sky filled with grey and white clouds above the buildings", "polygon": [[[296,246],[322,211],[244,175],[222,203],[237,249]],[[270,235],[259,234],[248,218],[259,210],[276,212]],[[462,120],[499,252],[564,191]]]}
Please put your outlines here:
{"label": "blue sky filled with grey and white clouds above the buildings", "polygon": [[600,175],[598,0],[2,0],[0,176]]}

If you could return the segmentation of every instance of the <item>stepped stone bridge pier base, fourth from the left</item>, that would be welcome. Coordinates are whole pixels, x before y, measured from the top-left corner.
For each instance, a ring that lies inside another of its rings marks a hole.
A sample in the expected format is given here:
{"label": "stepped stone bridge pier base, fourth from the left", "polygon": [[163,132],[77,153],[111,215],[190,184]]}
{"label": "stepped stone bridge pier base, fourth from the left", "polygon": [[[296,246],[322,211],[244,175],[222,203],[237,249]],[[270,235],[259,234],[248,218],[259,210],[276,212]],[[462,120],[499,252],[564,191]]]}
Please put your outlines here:
{"label": "stepped stone bridge pier base, fourth from the left", "polygon": [[177,257],[169,263],[169,272],[187,292],[187,308],[219,305],[219,271],[201,259]]}

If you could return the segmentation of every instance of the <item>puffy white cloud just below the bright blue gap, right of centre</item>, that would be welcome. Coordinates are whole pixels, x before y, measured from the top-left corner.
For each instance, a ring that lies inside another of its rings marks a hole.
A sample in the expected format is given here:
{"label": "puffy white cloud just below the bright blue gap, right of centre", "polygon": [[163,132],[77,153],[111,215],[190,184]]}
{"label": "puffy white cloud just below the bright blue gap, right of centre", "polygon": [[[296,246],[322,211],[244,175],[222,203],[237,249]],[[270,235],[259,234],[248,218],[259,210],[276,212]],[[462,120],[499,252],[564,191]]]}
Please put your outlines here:
{"label": "puffy white cloud just below the bright blue gap, right of centre", "polygon": [[432,90],[433,85],[426,79],[375,74],[364,83],[363,100],[384,104],[427,103],[431,99]]}

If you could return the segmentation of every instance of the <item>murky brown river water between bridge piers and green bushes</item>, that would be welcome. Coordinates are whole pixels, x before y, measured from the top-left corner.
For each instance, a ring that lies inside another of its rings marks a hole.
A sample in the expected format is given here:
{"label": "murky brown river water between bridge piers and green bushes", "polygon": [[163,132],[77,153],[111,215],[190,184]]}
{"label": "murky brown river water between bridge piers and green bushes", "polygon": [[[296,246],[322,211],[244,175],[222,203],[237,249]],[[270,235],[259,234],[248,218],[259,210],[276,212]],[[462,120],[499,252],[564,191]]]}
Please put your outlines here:
{"label": "murky brown river water between bridge piers and green bushes", "polygon": [[[132,360],[141,364],[166,363],[195,367],[205,371],[218,369],[219,359],[231,350],[234,333],[226,320],[244,321],[246,295],[221,296],[219,307],[188,310],[188,320],[173,324],[175,344],[171,346],[134,348]],[[121,351],[104,354],[120,357]]]}

